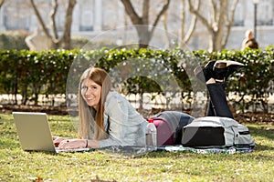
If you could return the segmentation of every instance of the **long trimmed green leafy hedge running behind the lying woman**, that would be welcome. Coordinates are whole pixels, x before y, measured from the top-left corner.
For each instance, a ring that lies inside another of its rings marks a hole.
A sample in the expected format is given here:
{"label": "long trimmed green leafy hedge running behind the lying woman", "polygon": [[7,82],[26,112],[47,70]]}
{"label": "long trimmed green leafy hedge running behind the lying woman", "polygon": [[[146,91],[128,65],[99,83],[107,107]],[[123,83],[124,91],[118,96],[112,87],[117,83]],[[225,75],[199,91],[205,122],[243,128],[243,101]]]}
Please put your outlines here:
{"label": "long trimmed green leafy hedge running behind the lying woman", "polygon": [[[229,97],[236,106],[244,110],[249,106],[259,105],[268,112],[267,98],[273,94],[273,46],[265,50],[223,50],[212,53],[203,50],[185,52],[124,48],[41,52],[4,50],[0,51],[0,94],[14,95],[14,104],[18,103],[16,94],[20,94],[23,96],[23,105],[26,105],[29,99],[33,99],[37,105],[40,94],[65,94],[69,68],[76,59],[94,63],[95,66],[100,66],[108,72],[117,67],[121,67],[120,71],[124,75],[131,74],[133,71],[135,75],[126,77],[126,81],[114,80],[114,84],[122,83],[121,91],[125,94],[155,92],[164,95],[163,89],[172,92],[172,86],[167,85],[163,88],[154,82],[159,77],[163,83],[169,82],[172,75],[180,87],[182,96],[192,96],[193,88],[199,89],[195,86],[195,82],[192,82],[195,76],[191,73],[195,66],[213,59],[234,60],[246,65],[245,69],[230,77],[227,86],[227,93],[237,96]],[[146,71],[147,75],[143,71]],[[247,96],[250,96],[248,101]]]}

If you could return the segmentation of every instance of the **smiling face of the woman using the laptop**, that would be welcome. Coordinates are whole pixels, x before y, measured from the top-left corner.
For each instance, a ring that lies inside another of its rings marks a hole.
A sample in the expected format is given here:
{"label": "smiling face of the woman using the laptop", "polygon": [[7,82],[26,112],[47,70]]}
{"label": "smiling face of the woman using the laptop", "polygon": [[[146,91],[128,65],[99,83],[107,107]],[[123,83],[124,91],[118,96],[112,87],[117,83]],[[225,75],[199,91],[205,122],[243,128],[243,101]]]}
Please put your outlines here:
{"label": "smiling face of the woman using the laptop", "polygon": [[91,79],[86,79],[81,85],[81,95],[89,106],[98,110],[100,103],[101,86]]}

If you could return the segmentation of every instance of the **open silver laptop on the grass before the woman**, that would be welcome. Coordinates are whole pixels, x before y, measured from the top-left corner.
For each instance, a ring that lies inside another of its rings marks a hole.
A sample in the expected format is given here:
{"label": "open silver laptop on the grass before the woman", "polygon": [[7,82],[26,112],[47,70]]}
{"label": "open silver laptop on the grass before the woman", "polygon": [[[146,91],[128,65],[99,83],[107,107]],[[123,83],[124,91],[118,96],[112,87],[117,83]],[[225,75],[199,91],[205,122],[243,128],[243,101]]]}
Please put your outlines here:
{"label": "open silver laptop on the grass before the woman", "polygon": [[80,152],[90,148],[58,149],[54,146],[46,113],[13,112],[17,135],[23,150],[49,152]]}

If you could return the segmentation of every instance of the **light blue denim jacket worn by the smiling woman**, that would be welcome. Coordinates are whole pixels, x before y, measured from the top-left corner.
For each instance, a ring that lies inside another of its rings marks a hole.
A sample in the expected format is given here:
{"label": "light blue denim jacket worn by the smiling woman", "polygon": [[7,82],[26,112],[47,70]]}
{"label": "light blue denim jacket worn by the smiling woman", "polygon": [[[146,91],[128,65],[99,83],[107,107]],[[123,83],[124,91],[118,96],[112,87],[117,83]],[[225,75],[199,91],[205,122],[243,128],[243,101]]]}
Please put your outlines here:
{"label": "light blue denim jacket worn by the smiling woman", "polygon": [[100,147],[145,146],[147,121],[126,98],[111,91],[104,107],[104,126],[109,135],[100,140]]}

